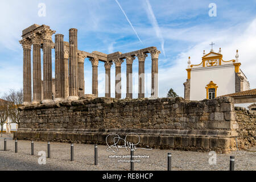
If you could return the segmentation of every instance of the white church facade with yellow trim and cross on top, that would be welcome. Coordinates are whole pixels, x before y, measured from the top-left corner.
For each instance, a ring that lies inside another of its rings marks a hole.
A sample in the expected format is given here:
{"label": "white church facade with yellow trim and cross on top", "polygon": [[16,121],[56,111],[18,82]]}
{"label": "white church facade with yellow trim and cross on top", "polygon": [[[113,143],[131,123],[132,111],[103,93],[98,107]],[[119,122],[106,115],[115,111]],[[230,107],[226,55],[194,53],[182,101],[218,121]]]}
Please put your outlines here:
{"label": "white church facade with yellow trim and cross on top", "polygon": [[238,50],[235,57],[234,60],[223,60],[221,48],[218,53],[213,49],[209,53],[204,51],[200,64],[191,64],[189,57],[186,69],[188,77],[184,82],[185,100],[214,99],[225,94],[249,90],[249,81],[240,68]]}

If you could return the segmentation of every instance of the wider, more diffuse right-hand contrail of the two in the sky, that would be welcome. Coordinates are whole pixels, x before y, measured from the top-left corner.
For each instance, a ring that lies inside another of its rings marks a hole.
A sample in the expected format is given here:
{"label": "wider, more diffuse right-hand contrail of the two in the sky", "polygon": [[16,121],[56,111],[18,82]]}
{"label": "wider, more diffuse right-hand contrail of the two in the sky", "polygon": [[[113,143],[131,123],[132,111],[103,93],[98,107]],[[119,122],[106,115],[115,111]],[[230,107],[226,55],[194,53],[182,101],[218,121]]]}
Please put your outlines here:
{"label": "wider, more diffuse right-hand contrail of the two in the sky", "polygon": [[166,53],[164,52],[164,39],[163,39],[163,36],[162,36],[162,32],[158,26],[158,21],[156,20],[155,18],[155,14],[152,10],[152,7],[150,5],[150,2],[149,0],[146,0],[146,3],[147,3],[147,15],[148,15],[148,19],[150,19],[150,22],[152,24],[152,26],[154,27],[154,30],[155,30],[155,33],[156,33],[156,36],[158,37],[158,39],[160,40],[160,43],[161,43],[161,48],[162,48],[162,51],[163,51],[163,55],[166,56]]}

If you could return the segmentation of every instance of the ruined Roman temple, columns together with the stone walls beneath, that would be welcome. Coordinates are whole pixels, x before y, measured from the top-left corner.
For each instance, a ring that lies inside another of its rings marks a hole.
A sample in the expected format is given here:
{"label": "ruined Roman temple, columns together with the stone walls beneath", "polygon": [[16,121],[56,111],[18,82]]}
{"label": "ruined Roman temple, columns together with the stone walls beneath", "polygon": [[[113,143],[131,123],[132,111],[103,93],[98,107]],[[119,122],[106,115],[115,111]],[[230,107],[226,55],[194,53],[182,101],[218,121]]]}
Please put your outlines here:
{"label": "ruined Roman temple, columns together with the stone walls beneath", "polygon": [[[55,31],[46,25],[34,24],[23,30],[20,43],[24,103],[19,107],[20,125],[14,138],[106,145],[106,142],[114,144],[114,137],[108,137],[109,134],[118,134],[121,138],[129,134],[126,142],[141,147],[224,153],[255,145],[256,117],[252,111],[234,107],[232,97],[203,101],[158,98],[160,51],[156,47],[109,55],[89,53],[78,49],[75,28],[69,30],[69,42],[64,42],[63,35],[56,34],[53,43],[53,34]],[[52,48],[55,49],[55,78],[52,78]],[[152,61],[151,98],[144,98],[144,63],[148,55]],[[92,94],[85,94],[84,60],[87,57],[92,63]],[[130,77],[135,57],[139,61],[138,98],[133,98]],[[126,98],[121,99],[120,73],[125,60]],[[105,63],[105,97],[98,97],[99,61]],[[110,97],[113,63],[115,98]]]}

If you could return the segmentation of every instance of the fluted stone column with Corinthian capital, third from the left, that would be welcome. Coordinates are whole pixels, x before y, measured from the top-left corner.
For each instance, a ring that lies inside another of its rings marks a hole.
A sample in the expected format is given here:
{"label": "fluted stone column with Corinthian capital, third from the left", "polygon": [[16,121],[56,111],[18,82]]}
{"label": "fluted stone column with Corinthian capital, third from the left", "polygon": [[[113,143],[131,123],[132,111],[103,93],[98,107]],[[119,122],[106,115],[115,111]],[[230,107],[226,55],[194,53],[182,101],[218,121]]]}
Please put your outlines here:
{"label": "fluted stone column with Corinthian capital, third from the left", "polygon": [[53,102],[52,100],[52,35],[55,31],[44,29],[43,38],[43,80],[44,98],[42,103]]}

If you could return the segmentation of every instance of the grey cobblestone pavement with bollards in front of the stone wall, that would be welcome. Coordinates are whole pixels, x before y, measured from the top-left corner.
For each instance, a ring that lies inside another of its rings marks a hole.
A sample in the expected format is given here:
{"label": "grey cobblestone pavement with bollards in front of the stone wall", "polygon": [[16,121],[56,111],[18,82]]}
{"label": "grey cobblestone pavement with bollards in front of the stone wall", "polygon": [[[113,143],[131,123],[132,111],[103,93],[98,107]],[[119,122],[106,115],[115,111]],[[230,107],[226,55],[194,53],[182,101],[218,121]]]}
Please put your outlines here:
{"label": "grey cobblestone pavement with bollards in front of the stone wall", "polygon": [[[7,136],[5,136],[7,137]],[[51,159],[46,164],[38,164],[39,151],[47,155],[47,142],[35,142],[35,155],[31,156],[31,142],[18,141],[18,154],[14,150],[14,140],[7,138],[7,151],[3,151],[3,137],[0,138],[0,170],[129,170],[130,163],[117,162],[110,155],[130,155],[124,148],[118,154],[106,151],[106,146],[98,146],[98,165],[94,166],[94,145],[74,144],[74,161],[70,161],[71,146],[68,143],[51,142]],[[172,153],[172,170],[229,170],[229,157],[235,156],[235,170],[256,170],[256,146],[251,151],[233,151],[231,154],[217,154],[216,164],[209,165],[211,157],[207,152],[139,150],[135,155],[148,155],[141,162],[134,163],[135,170],[166,170],[167,153]],[[128,158],[129,159],[129,158]],[[139,158],[137,158],[139,160]]]}

